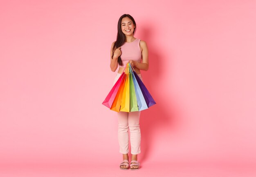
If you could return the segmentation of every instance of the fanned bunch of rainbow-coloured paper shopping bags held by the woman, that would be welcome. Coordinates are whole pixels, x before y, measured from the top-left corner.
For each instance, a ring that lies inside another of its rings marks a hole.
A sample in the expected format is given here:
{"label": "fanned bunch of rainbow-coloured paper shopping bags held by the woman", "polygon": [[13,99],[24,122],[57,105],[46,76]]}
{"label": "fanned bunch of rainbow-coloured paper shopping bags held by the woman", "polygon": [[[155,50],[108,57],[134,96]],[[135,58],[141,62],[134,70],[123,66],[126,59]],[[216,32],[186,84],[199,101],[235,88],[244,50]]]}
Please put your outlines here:
{"label": "fanned bunch of rainbow-coloured paper shopping bags held by the woman", "polygon": [[130,63],[102,103],[112,111],[142,111],[156,104]]}

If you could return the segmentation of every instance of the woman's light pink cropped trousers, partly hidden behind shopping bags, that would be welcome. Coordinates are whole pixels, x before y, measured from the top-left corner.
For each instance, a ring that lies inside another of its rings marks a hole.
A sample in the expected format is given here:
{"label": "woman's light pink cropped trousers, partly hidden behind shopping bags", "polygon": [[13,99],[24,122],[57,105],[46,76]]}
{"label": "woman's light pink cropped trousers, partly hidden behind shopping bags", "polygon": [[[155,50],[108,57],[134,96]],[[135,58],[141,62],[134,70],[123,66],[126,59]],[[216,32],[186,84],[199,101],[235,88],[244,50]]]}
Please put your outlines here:
{"label": "woman's light pink cropped trousers, partly hidden behind shopping bags", "polygon": [[[121,74],[117,73],[113,86],[119,79]],[[142,81],[141,74],[138,74],[139,78]],[[140,153],[140,142],[141,142],[141,133],[139,127],[139,116],[140,111],[135,112],[119,112],[117,113],[118,119],[118,142],[119,142],[119,152],[122,154],[129,153],[129,134],[128,129],[130,129],[130,145],[131,145],[131,154]]]}

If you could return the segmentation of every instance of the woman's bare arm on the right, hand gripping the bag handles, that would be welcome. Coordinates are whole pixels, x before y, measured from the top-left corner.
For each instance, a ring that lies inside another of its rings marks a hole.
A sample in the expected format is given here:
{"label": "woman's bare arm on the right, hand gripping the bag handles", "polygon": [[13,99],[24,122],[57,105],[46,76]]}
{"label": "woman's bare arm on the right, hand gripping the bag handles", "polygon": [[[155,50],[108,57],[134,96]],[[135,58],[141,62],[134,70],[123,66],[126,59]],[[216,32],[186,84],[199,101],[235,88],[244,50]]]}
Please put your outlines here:
{"label": "woman's bare arm on the right, hand gripping the bag handles", "polygon": [[143,40],[140,40],[140,46],[142,48],[142,52],[141,52],[142,62],[139,63],[139,62],[130,60],[130,64],[132,66],[135,66],[137,69],[148,71],[148,46],[146,42]]}

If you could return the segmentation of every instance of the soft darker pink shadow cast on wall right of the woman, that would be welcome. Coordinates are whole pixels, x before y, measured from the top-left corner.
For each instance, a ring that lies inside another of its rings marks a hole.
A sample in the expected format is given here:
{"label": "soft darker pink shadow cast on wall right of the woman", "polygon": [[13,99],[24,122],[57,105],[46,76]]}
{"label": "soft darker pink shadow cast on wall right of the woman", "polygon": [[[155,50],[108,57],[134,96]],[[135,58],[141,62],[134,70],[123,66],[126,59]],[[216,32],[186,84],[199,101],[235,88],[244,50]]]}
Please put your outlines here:
{"label": "soft darker pink shadow cast on wall right of the woman", "polygon": [[[161,129],[166,128],[171,129],[173,126],[176,126],[174,125],[176,123],[173,121],[174,108],[171,106],[170,100],[168,100],[170,93],[167,92],[166,89],[158,86],[163,73],[166,73],[162,70],[162,68],[165,68],[163,67],[163,51],[158,50],[160,48],[159,46],[161,46],[159,45],[159,41],[157,41],[159,32],[155,32],[153,26],[148,27],[148,24],[150,23],[145,23],[145,25],[141,24],[141,28],[139,29],[139,38],[147,43],[149,58],[149,69],[148,71],[142,71],[141,75],[144,84],[157,104],[149,109],[141,111],[141,155],[139,157],[141,162],[146,160],[152,152],[151,147],[155,144],[153,139],[155,137],[155,132],[159,132]],[[171,60],[171,58],[168,58],[168,60]],[[157,150],[161,149],[158,148]]]}

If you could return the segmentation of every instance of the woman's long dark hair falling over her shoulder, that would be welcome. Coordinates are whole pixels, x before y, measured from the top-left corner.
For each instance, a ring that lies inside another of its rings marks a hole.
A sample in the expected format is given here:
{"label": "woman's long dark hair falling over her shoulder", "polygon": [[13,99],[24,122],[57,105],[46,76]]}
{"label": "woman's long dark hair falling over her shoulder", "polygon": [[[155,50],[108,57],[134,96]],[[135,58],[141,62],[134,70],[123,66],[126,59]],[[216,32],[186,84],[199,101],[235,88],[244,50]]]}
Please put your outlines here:
{"label": "woman's long dark hair falling over her shoulder", "polygon": [[[113,49],[112,49],[112,58],[113,58],[115,49],[117,49],[118,47],[124,45],[124,42],[125,42],[125,39],[126,39],[126,36],[125,36],[125,34],[122,32],[122,29],[121,29],[121,21],[122,21],[122,19],[123,19],[124,17],[130,18],[130,19],[132,20],[133,24],[135,25],[133,34],[134,34],[135,31],[136,31],[136,23],[135,23],[134,18],[132,18],[131,15],[129,15],[129,14],[124,14],[124,15],[122,15],[122,16],[119,18],[118,23],[117,23],[117,40],[116,40],[116,42],[114,43],[114,46],[113,46]],[[119,65],[123,66],[123,62],[122,62],[122,60],[121,60],[121,56],[118,57],[117,62],[118,62]]]}

